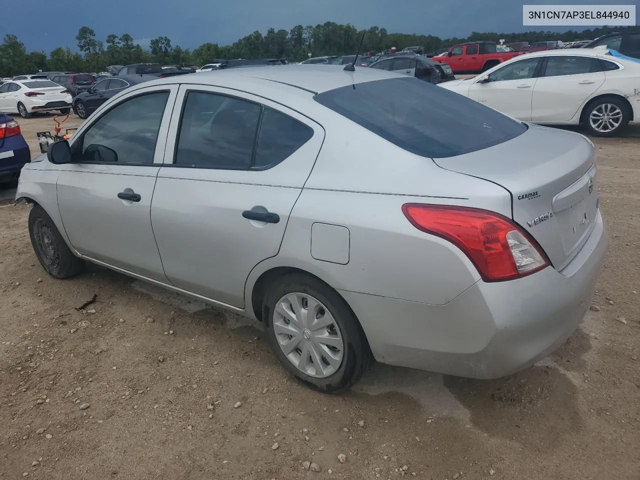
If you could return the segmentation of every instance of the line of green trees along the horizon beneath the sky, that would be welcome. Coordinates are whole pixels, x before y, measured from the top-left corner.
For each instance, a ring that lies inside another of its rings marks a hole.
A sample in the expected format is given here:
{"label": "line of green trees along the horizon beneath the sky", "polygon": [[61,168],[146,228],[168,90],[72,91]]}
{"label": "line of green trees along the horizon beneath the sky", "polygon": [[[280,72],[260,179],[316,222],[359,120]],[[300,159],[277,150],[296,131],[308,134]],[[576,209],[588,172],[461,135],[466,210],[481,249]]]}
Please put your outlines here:
{"label": "line of green trees along the horizon beneath the sky", "polygon": [[[0,45],[0,77],[19,74],[33,74],[40,70],[101,72],[108,65],[129,65],[131,63],[159,62],[163,65],[204,65],[216,58],[287,58],[300,61],[308,55],[342,55],[353,54],[358,48],[360,38],[362,51],[380,52],[392,47],[401,50],[405,47],[419,45],[424,51],[435,51],[461,42],[476,40],[504,39],[508,42],[544,42],[548,40],[590,40],[597,36],[623,31],[627,28],[596,28],[583,31],[567,31],[553,33],[551,31],[529,31],[524,33],[479,33],[473,32],[467,38],[442,39],[433,35],[417,35],[406,33],[388,33],[385,28],[371,27],[358,30],[351,24],[341,25],[326,22],[314,26],[296,25],[291,30],[269,28],[263,35],[254,31],[250,35],[237,40],[232,45],[209,43],[189,50],[180,45],[172,45],[170,38],[159,36],[151,40],[149,48],[144,49],[134,42],[129,33],[118,36],[107,35],[104,42],[95,38],[95,31],[89,27],[79,29],[76,40],[78,51],[68,47],[57,47],[47,55],[45,52],[27,52],[26,47],[16,35],[4,36]],[[106,44],[106,46],[105,46]]]}

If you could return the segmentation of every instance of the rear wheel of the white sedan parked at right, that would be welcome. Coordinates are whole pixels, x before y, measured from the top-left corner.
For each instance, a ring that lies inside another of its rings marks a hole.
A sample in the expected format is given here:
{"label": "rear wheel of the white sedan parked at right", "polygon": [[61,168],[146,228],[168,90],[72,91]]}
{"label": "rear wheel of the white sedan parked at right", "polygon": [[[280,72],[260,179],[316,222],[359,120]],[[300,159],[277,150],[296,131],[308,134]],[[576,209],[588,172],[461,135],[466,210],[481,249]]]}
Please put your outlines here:
{"label": "rear wheel of the white sedan parked at right", "polygon": [[[608,115],[608,116],[607,116]],[[599,119],[602,118],[602,121]],[[628,105],[618,97],[600,97],[589,103],[582,112],[582,124],[596,137],[618,135],[631,120]]]}

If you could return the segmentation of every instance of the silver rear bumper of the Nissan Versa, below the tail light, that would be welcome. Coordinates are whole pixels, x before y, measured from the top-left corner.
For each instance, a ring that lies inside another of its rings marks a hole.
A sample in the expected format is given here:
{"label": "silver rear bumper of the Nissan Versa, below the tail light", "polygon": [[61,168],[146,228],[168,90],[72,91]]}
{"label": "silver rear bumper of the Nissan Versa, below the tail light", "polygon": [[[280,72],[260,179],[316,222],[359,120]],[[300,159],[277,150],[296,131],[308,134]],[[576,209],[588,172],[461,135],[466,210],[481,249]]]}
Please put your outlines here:
{"label": "silver rear bumper of the Nissan Versa, below the tail light", "polygon": [[606,244],[598,212],[587,243],[561,272],[548,267],[510,282],[479,281],[442,306],[340,294],[379,362],[499,378],[534,364],[570,337],[591,305]]}

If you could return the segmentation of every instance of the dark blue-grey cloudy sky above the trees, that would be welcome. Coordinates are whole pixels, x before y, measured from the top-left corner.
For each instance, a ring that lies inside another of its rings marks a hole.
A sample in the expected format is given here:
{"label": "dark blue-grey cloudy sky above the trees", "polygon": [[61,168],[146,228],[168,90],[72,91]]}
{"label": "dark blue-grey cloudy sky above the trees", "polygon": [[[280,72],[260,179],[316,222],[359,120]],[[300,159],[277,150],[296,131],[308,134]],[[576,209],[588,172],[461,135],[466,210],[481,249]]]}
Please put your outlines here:
{"label": "dark blue-grey cloudy sky above the trees", "polygon": [[[522,26],[522,4],[513,0],[110,0],[69,3],[51,0],[3,2],[0,35],[17,35],[29,50],[63,46],[74,50],[81,26],[104,42],[109,33],[129,33],[143,47],[156,36],[194,48],[204,42],[231,44],[252,31],[326,21],[358,29],[384,27],[390,33],[447,38],[472,31],[542,29]],[[638,4],[639,0],[543,0],[527,4]],[[588,27],[580,27],[583,29]],[[547,29],[547,28],[545,28]],[[548,28],[563,31],[567,28]]]}

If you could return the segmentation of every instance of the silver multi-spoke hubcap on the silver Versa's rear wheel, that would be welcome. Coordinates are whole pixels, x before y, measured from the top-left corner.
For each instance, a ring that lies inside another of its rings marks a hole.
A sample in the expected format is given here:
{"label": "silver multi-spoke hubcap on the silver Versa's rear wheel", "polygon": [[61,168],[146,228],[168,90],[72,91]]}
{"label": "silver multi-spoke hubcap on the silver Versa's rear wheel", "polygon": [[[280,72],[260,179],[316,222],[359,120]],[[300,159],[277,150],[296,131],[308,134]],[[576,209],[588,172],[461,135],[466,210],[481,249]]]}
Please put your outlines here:
{"label": "silver multi-spoke hubcap on the silver Versa's rear wheel", "polygon": [[296,292],[278,300],[273,332],[282,353],[304,374],[326,378],[340,368],[344,356],[340,328],[316,298]]}

